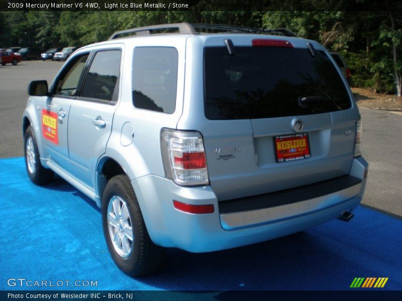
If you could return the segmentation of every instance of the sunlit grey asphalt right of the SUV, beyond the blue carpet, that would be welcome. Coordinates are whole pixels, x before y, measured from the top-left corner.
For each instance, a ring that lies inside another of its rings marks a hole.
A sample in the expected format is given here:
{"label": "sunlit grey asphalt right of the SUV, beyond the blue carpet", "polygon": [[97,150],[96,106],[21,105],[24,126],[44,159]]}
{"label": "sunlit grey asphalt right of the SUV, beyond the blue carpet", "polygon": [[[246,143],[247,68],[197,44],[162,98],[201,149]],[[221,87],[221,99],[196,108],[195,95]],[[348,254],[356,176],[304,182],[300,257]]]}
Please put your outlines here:
{"label": "sunlit grey asphalt right of the SUV, beyond the blue carpet", "polygon": [[361,108],[362,155],[370,164],[362,203],[402,217],[402,115]]}

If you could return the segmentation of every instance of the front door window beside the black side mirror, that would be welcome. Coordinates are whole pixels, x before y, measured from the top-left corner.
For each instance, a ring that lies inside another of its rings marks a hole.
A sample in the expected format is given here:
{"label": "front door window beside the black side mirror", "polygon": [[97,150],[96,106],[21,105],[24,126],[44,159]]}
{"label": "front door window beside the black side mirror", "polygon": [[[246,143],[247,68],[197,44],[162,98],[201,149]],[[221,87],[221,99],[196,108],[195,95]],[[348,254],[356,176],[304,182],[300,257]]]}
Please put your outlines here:
{"label": "front door window beside the black side mirror", "polygon": [[67,67],[66,72],[59,78],[56,85],[55,95],[76,96],[78,82],[81,77],[82,71],[85,67],[88,55],[78,57],[70,66]]}

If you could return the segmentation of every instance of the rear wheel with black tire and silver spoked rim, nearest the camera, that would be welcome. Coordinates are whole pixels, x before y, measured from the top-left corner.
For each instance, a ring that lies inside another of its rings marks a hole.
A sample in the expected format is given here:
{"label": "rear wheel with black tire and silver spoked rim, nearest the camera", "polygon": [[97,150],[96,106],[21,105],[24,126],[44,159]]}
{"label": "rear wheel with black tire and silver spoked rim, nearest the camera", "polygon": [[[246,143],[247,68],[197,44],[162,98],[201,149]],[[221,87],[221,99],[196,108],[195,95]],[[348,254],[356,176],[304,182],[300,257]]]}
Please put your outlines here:
{"label": "rear wheel with black tire and silver spoked rim, nearest the camera", "polygon": [[102,225],[113,260],[127,275],[149,274],[163,263],[166,249],[149,237],[134,189],[125,175],[113,177],[106,185]]}

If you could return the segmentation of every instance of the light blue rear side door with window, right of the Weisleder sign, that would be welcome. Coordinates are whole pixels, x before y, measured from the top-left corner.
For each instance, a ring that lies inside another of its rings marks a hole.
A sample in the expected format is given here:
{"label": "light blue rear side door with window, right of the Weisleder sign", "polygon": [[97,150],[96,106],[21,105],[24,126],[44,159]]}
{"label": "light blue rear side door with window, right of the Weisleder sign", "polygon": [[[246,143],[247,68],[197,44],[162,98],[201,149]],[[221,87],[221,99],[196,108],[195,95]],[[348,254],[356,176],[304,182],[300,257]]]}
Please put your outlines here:
{"label": "light blue rear side door with window, right of the Weisleder sign", "polygon": [[71,173],[94,187],[97,159],[106,152],[119,98],[121,48],[94,51],[81,94],[72,103],[68,122]]}

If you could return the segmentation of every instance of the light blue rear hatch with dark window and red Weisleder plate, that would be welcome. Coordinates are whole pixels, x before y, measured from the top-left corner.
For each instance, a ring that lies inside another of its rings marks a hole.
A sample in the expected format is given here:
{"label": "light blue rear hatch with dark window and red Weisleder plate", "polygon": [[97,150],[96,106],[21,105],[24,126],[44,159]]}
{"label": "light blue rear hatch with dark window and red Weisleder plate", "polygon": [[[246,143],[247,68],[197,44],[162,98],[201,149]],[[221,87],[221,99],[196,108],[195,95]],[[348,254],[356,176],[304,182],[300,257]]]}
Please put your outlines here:
{"label": "light blue rear hatch with dark window and red Weisleder plate", "polygon": [[235,39],[232,51],[224,43],[204,49],[208,121],[200,130],[218,199],[348,174],[358,112],[328,52],[300,39]]}

